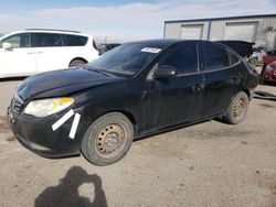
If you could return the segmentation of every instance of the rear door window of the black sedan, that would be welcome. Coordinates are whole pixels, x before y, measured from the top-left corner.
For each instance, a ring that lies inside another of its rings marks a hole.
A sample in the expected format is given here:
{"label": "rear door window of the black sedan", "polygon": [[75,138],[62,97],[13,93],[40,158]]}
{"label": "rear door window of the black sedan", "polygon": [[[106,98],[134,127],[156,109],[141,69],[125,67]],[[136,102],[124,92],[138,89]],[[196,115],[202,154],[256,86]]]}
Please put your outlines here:
{"label": "rear door window of the black sedan", "polygon": [[216,44],[202,44],[204,69],[219,69],[230,66],[230,57],[224,47]]}

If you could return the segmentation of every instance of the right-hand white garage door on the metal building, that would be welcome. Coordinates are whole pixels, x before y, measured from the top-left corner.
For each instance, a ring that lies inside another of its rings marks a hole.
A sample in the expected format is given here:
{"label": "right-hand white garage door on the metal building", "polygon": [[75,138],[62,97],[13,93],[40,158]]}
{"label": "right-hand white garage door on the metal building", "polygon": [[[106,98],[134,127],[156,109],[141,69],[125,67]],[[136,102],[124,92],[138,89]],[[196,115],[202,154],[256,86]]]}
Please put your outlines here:
{"label": "right-hand white garage door on the metal building", "polygon": [[227,23],[224,30],[223,40],[240,40],[255,42],[257,22]]}

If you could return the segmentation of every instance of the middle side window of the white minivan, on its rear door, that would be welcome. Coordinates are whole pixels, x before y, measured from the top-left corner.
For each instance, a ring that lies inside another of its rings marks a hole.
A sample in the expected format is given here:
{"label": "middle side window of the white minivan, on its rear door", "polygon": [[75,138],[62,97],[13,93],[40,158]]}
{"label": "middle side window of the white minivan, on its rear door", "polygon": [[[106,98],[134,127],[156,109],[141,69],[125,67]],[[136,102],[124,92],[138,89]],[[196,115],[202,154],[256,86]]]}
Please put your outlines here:
{"label": "middle side window of the white minivan, on its rear door", "polygon": [[62,46],[62,35],[53,33],[35,33],[34,46]]}

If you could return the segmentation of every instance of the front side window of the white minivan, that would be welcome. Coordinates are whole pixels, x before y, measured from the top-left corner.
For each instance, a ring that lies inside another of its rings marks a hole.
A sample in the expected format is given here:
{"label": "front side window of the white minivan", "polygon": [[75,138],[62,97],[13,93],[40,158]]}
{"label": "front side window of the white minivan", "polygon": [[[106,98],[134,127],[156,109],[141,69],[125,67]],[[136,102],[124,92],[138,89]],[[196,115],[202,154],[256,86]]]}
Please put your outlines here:
{"label": "front side window of the white minivan", "polygon": [[2,43],[10,43],[13,48],[30,47],[31,46],[30,34],[29,33],[17,34],[3,40]]}

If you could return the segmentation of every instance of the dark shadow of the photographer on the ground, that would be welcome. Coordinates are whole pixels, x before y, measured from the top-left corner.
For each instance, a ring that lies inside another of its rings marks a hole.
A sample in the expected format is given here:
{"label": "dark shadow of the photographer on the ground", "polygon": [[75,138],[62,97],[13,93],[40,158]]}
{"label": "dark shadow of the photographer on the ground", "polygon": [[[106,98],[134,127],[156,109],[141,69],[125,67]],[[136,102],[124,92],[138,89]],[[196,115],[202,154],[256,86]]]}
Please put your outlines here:
{"label": "dark shadow of the photographer on the ground", "polygon": [[[78,187],[85,183],[94,184],[94,200],[78,194]],[[105,192],[102,188],[102,179],[97,174],[89,175],[79,166],[68,170],[65,177],[60,179],[60,184],[45,188],[35,199],[35,207],[107,207]]]}

